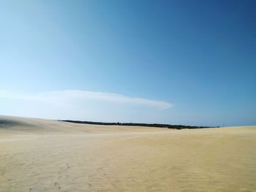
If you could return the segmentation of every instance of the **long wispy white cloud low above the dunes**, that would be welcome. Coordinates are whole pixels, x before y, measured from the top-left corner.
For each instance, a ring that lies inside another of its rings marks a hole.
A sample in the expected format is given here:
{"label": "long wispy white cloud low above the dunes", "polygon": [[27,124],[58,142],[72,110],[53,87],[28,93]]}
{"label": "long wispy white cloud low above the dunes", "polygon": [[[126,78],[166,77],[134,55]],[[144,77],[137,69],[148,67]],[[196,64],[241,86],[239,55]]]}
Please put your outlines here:
{"label": "long wispy white cloud low above the dunes", "polygon": [[124,96],[116,93],[102,93],[95,91],[48,91],[43,93],[10,93],[8,91],[0,91],[1,98],[7,99],[25,99],[29,101],[41,101],[61,106],[72,106],[74,102],[97,102],[104,101],[113,104],[135,104],[147,107],[154,107],[156,110],[167,110],[173,107],[167,101],[158,101],[153,99],[144,99],[138,97]]}

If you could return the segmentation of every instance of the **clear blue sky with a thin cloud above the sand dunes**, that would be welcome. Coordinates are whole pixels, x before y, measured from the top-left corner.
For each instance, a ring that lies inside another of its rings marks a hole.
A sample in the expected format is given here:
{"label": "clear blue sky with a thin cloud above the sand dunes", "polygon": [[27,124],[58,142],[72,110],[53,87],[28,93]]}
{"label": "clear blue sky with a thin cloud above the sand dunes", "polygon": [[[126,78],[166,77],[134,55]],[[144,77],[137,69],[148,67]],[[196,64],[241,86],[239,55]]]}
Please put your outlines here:
{"label": "clear blue sky with a thin cloud above the sand dunes", "polygon": [[256,1],[1,1],[0,115],[256,125]]}

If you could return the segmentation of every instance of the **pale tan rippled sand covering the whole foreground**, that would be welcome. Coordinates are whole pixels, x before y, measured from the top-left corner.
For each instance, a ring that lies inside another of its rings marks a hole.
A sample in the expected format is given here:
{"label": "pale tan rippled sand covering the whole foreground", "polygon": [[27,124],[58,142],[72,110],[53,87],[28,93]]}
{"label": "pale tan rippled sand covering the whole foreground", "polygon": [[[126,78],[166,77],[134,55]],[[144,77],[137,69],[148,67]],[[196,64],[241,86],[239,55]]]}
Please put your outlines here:
{"label": "pale tan rippled sand covering the whole foreground", "polygon": [[256,126],[0,122],[0,191],[256,191]]}

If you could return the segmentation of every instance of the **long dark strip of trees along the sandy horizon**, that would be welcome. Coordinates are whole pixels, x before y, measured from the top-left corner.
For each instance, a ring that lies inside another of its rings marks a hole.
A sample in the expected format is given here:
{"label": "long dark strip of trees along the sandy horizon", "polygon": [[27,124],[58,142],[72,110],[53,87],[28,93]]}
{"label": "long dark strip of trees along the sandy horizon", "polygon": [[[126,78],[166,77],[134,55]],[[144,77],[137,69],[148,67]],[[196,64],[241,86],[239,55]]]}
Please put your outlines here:
{"label": "long dark strip of trees along the sandy horizon", "polygon": [[82,123],[91,125],[102,125],[102,126],[146,126],[146,127],[160,127],[160,128],[211,128],[212,126],[183,126],[183,125],[169,125],[159,123],[105,123],[105,122],[92,122],[92,121],[80,121],[80,120],[61,120],[69,123]]}

